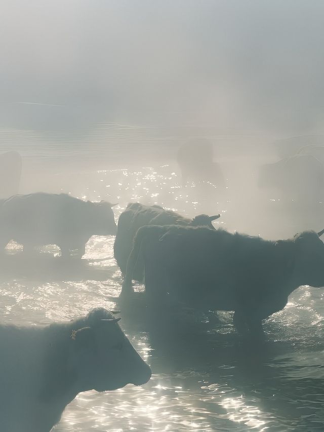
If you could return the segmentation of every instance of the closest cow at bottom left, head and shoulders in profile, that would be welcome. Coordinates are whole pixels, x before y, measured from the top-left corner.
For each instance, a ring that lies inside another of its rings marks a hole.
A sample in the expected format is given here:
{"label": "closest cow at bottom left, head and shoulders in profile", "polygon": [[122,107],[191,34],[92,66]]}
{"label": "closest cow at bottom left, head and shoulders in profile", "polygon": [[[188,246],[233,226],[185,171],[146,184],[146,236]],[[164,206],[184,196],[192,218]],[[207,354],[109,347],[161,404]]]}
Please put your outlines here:
{"label": "closest cow at bottom left, head and shoulders in profile", "polygon": [[145,384],[151,369],[119,319],[96,308],[47,326],[0,325],[0,429],[49,432],[79,392]]}

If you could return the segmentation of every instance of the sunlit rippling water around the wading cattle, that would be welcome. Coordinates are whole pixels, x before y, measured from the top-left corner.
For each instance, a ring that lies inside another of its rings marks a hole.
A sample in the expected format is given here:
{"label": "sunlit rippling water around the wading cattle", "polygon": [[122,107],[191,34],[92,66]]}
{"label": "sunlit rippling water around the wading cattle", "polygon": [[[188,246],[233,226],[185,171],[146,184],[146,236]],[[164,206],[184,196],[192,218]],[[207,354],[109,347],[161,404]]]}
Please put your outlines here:
{"label": "sunlit rippling water around the wading cattle", "polygon": [[[32,151],[37,155],[35,147]],[[66,161],[67,151],[74,150],[65,148],[55,154]],[[45,160],[53,156],[44,148],[42,154]],[[138,200],[188,215],[221,212],[216,225],[266,237],[280,232],[290,235],[295,229],[292,213],[281,213],[281,225],[269,227],[279,209],[275,201],[263,209],[263,201],[251,205],[248,192],[233,193],[243,178],[245,191],[253,184],[253,168],[242,172],[236,183],[227,175],[228,188],[221,191],[212,184],[182,188],[172,164],[80,171],[63,165],[64,169],[58,164],[51,172],[47,187],[80,198],[118,202],[116,218],[129,201]],[[324,223],[321,207],[317,210],[316,223]],[[50,323],[84,315],[96,306],[114,309],[121,279],[113,259],[113,240],[93,237],[85,257],[71,260],[68,267],[55,247],[22,258],[19,246],[11,244],[0,264],[2,322]],[[188,336],[168,317],[163,326],[157,326],[135,304],[123,311],[120,323],[151,365],[152,379],[141,387],[79,394],[55,430],[323,430],[323,314],[324,291],[298,289],[285,310],[266,321],[267,342],[258,347],[235,334],[230,313],[219,313],[219,323],[209,331],[187,322],[184,326],[192,329]]]}

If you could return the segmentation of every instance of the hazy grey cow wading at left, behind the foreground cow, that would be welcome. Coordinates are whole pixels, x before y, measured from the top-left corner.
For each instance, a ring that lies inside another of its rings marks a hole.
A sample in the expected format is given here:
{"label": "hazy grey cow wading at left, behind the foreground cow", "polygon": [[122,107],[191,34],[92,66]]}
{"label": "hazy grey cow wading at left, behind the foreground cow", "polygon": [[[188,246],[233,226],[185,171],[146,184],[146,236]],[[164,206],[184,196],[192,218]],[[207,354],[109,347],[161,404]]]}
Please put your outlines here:
{"label": "hazy grey cow wading at left, behind the foreground cow", "polygon": [[111,207],[105,201],[85,202],[65,193],[13,195],[0,202],[0,250],[15,240],[25,251],[55,244],[62,257],[70,256],[71,250],[82,256],[92,235],[116,233]]}

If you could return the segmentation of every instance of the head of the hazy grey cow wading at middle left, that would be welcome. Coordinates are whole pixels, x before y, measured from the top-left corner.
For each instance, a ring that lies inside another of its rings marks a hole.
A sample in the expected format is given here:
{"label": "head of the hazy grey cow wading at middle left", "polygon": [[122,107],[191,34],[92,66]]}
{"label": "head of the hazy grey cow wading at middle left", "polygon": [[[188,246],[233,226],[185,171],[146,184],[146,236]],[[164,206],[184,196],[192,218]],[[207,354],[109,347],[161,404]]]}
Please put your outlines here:
{"label": "head of the hazy grey cow wading at middle left", "polygon": [[100,201],[99,203],[89,202],[92,206],[92,226],[95,230],[94,234],[97,235],[115,235],[117,226],[114,219],[112,207],[116,204],[110,204],[107,201]]}

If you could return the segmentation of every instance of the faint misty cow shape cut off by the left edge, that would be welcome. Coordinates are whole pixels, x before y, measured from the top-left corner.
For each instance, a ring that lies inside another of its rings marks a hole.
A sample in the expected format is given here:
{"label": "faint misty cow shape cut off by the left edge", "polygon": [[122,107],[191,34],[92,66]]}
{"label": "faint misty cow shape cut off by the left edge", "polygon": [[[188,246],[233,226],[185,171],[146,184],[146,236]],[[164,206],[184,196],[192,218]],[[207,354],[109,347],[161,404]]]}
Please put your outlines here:
{"label": "faint misty cow shape cut off by the left edge", "polygon": [[0,199],[19,192],[21,155],[17,151],[0,154]]}

